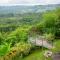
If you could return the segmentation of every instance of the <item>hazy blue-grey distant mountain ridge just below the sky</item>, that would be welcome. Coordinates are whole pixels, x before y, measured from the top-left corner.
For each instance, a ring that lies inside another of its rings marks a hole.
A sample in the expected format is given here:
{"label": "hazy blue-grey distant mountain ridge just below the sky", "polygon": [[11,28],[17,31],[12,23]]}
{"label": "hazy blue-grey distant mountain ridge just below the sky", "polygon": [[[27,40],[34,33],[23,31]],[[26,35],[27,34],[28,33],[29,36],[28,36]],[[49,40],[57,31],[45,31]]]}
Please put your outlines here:
{"label": "hazy blue-grey distant mountain ridge just below the sky", "polygon": [[52,10],[57,7],[60,7],[60,4],[51,4],[51,5],[34,5],[34,6],[0,6],[0,14],[14,13],[39,13],[47,10]]}

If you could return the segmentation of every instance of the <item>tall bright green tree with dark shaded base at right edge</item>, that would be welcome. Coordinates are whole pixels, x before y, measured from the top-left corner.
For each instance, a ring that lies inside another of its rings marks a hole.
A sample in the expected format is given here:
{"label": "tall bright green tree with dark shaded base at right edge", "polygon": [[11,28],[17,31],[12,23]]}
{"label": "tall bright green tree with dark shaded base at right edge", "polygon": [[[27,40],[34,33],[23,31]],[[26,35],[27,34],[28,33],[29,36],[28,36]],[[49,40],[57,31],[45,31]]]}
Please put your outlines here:
{"label": "tall bright green tree with dark shaded base at right edge", "polygon": [[42,21],[38,28],[43,31],[43,33],[52,33],[56,37],[60,36],[60,9],[56,9],[43,14]]}

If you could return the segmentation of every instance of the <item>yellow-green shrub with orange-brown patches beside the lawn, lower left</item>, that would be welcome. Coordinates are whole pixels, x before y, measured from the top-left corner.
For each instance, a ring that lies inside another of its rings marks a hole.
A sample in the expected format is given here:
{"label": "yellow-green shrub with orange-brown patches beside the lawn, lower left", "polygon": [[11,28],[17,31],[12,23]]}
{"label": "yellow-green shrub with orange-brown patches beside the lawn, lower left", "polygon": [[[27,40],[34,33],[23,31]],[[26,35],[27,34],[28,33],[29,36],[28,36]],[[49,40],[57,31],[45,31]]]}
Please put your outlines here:
{"label": "yellow-green shrub with orange-brown patches beside the lawn, lower left", "polygon": [[18,57],[24,57],[29,54],[31,50],[31,44],[28,43],[17,43],[14,47],[11,48],[10,52],[5,55],[4,59],[15,60]]}

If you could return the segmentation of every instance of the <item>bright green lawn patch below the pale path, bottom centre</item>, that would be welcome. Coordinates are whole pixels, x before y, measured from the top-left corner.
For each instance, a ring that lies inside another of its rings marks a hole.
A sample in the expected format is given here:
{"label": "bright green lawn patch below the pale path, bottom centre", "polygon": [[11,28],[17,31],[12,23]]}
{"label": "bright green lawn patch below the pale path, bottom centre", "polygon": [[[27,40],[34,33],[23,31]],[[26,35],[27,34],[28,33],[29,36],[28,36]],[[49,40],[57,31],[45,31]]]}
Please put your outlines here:
{"label": "bright green lawn patch below the pale path, bottom centre", "polygon": [[32,54],[30,54],[29,56],[26,56],[25,58],[23,58],[22,60],[51,60],[51,58],[45,58],[44,57],[44,52],[45,50],[36,50],[34,51]]}

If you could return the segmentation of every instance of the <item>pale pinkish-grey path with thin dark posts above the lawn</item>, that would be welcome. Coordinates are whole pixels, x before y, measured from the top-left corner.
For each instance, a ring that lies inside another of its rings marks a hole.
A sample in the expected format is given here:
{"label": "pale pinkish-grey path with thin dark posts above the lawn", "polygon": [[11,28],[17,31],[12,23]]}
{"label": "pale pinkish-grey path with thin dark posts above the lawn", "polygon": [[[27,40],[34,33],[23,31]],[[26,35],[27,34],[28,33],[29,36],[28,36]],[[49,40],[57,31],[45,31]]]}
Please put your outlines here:
{"label": "pale pinkish-grey path with thin dark posts above the lawn", "polygon": [[36,46],[43,46],[45,48],[51,49],[53,48],[51,44],[49,44],[46,40],[40,38],[29,38],[29,42],[36,45]]}

